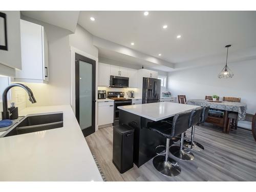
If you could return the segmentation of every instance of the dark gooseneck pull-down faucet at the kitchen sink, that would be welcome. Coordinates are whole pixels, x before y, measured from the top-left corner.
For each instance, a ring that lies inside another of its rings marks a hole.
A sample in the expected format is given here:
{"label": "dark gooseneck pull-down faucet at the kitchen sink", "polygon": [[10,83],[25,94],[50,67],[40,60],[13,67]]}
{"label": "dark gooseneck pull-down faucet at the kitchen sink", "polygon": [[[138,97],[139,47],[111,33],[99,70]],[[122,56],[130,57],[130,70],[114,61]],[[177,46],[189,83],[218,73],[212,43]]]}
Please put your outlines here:
{"label": "dark gooseneck pull-down faucet at the kitchen sink", "polygon": [[23,89],[25,89],[29,95],[29,100],[32,103],[35,103],[36,100],[34,98],[33,92],[31,91],[31,89],[29,89],[29,87],[25,86],[25,84],[21,84],[21,83],[13,83],[10,84],[3,93],[3,112],[2,112],[2,119],[10,119],[10,112],[8,111],[8,103],[7,103],[7,93],[8,91],[12,88],[12,87],[21,87]]}

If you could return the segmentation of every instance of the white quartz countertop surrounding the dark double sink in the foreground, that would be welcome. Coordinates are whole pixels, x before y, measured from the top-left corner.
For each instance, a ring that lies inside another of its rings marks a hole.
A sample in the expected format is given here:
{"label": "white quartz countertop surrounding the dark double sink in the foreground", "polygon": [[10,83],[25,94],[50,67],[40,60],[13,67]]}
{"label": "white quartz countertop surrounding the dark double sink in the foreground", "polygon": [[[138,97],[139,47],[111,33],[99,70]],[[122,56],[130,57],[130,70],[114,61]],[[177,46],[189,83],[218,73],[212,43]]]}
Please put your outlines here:
{"label": "white quartz countertop surrounding the dark double sink in the foreground", "polygon": [[63,127],[0,138],[0,181],[102,181],[70,105],[36,106],[19,115],[49,112],[63,112]]}

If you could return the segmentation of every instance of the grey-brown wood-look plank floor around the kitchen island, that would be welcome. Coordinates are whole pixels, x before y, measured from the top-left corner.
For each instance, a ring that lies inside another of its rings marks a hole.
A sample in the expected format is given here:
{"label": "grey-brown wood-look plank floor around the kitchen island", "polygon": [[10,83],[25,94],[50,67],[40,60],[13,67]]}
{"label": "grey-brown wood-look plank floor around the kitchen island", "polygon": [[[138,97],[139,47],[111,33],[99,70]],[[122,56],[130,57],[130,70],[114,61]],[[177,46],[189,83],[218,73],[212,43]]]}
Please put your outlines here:
{"label": "grey-brown wood-look plank floor around the kitchen island", "polygon": [[251,131],[244,129],[238,128],[227,135],[210,124],[196,126],[195,140],[205,150],[193,152],[193,161],[182,161],[170,154],[181,166],[177,177],[157,172],[152,159],[139,168],[134,164],[120,174],[112,163],[112,126],[99,129],[86,140],[108,181],[256,181],[256,142]]}

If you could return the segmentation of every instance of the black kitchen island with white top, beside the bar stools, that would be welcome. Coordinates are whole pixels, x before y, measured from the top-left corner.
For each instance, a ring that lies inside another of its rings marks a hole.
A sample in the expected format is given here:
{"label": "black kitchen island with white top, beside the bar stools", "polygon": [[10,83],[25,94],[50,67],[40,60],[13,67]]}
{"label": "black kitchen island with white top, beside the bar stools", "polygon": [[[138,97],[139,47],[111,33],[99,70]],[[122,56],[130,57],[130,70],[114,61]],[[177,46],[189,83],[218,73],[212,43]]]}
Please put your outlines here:
{"label": "black kitchen island with white top, beside the bar stools", "polygon": [[148,129],[148,122],[164,120],[176,114],[199,108],[200,106],[173,102],[119,106],[119,124],[126,124],[135,129],[134,163],[138,167],[143,165],[156,156],[156,146],[166,143],[164,137]]}

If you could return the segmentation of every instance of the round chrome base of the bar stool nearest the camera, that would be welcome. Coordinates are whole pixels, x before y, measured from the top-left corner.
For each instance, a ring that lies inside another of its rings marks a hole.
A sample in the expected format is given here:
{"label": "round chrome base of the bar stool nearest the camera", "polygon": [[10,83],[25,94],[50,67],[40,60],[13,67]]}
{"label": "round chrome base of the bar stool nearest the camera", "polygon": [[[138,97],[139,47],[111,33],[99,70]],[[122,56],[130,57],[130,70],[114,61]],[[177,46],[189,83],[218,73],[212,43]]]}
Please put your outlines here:
{"label": "round chrome base of the bar stool nearest the camera", "polygon": [[178,162],[172,158],[168,158],[168,160],[165,161],[165,156],[162,155],[156,156],[153,159],[153,165],[158,170],[158,172],[165,176],[176,177],[181,173]]}

